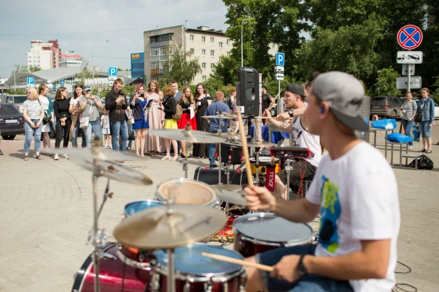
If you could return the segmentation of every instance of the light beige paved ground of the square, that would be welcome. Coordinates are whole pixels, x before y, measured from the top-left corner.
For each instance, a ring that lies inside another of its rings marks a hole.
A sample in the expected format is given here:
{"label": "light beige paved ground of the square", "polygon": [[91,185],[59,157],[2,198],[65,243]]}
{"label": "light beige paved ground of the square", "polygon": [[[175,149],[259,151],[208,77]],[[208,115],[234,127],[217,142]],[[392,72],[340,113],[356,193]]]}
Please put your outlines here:
{"label": "light beige paved ground of the square", "polygon": [[[438,127],[433,127],[433,138],[439,139]],[[384,150],[382,132],[377,147]],[[415,142],[413,150],[421,147]],[[63,158],[30,157],[24,162],[23,136],[1,140],[1,150],[5,155],[0,156],[0,291],[70,291],[73,274],[92,251],[85,245],[92,226],[91,173]],[[433,170],[394,169],[401,205],[399,261],[411,268],[408,274],[397,274],[397,282],[427,292],[439,291],[439,146],[433,145],[428,156],[435,163]],[[160,158],[124,163],[151,176],[152,186],[110,183],[114,197],[99,220],[109,241],[126,203],[154,198],[161,181],[183,176],[178,162]],[[207,159],[190,159],[189,177],[197,166],[207,164]],[[106,182],[99,179],[99,196]],[[405,270],[401,265],[396,268]]]}

